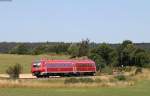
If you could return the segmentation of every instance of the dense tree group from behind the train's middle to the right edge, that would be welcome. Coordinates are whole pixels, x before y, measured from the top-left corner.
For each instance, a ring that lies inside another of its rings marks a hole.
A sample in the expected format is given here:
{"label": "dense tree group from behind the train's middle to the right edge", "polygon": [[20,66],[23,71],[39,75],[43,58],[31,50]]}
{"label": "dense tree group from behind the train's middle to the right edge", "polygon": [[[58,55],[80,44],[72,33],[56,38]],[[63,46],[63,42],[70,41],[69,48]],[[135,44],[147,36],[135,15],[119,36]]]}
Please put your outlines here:
{"label": "dense tree group from behind the train's middle to the right edge", "polygon": [[87,56],[94,60],[99,71],[114,67],[150,66],[149,51],[137,47],[130,40],[125,40],[116,47],[102,43],[90,48],[89,44],[89,40],[83,40],[80,44],[71,44],[68,52],[72,58]]}

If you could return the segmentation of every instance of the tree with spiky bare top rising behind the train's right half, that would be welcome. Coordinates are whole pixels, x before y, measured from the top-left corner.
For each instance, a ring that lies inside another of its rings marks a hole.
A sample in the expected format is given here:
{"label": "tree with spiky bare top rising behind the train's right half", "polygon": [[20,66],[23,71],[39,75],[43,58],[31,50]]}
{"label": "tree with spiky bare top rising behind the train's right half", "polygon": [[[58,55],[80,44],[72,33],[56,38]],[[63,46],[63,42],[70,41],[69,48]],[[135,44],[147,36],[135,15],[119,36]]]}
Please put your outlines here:
{"label": "tree with spiky bare top rising behind the train's right half", "polygon": [[89,40],[88,39],[82,40],[82,42],[79,45],[79,54],[78,54],[78,56],[79,57],[88,56],[89,55],[89,50],[90,50]]}

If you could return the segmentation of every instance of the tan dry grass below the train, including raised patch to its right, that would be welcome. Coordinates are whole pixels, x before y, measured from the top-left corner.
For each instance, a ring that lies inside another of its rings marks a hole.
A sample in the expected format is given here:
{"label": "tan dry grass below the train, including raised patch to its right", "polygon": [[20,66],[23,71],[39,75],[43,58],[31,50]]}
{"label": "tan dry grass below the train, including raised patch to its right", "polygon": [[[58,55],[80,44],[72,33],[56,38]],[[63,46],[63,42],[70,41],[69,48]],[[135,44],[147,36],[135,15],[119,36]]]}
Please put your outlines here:
{"label": "tan dry grass below the train, including raised patch to its right", "polygon": [[92,83],[67,83],[65,78],[53,79],[34,79],[34,80],[0,80],[0,88],[90,88],[90,87],[126,87],[134,85],[133,81],[117,81],[113,76],[95,76],[91,77],[93,80],[100,79],[100,82]]}

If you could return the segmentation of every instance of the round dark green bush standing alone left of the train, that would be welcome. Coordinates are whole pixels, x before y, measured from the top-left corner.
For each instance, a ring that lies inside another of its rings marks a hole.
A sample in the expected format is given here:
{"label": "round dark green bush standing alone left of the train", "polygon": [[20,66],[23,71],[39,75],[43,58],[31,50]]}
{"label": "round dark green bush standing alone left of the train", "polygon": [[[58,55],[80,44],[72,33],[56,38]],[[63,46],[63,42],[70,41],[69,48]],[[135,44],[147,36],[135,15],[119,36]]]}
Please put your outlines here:
{"label": "round dark green bush standing alone left of the train", "polygon": [[15,64],[14,66],[9,66],[6,73],[11,79],[19,78],[19,74],[22,72],[22,66],[20,64]]}

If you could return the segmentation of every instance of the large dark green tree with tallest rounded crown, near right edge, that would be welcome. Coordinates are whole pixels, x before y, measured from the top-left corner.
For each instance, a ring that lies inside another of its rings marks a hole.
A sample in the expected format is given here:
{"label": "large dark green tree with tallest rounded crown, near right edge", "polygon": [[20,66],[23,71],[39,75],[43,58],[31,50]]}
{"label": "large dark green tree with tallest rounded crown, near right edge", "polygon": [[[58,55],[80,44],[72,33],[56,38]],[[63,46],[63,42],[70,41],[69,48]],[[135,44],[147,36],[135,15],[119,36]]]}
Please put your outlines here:
{"label": "large dark green tree with tallest rounded crown, near right edge", "polygon": [[124,41],[118,48],[118,66],[144,66],[149,62],[149,56],[144,49],[137,48],[132,41]]}

